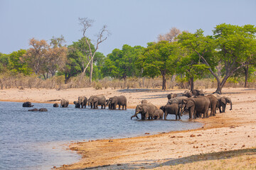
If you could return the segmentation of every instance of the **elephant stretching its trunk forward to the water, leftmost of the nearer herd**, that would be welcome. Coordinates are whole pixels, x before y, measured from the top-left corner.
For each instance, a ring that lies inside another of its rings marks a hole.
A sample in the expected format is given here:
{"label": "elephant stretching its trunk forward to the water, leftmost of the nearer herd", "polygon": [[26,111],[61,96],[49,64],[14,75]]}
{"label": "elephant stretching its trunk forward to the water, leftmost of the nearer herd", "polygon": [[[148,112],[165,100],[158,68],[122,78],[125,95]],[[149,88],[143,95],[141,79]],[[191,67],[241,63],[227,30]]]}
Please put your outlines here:
{"label": "elephant stretching its trunk forward to the water, leftmost of the nearer herd", "polygon": [[138,118],[138,114],[141,113],[142,114],[142,120],[147,120],[147,119],[153,119],[154,118],[154,113],[158,108],[156,108],[156,106],[154,106],[151,103],[143,103],[143,104],[139,104],[137,105],[136,109],[135,109],[135,114],[132,115],[131,119],[136,117]]}

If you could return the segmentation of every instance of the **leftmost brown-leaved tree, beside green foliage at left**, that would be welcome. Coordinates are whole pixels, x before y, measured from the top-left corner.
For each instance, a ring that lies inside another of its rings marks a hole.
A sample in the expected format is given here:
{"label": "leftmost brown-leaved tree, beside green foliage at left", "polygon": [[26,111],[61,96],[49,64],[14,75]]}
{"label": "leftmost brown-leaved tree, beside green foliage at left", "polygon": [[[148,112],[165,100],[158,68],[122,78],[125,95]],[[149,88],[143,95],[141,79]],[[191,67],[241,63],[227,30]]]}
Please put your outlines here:
{"label": "leftmost brown-leaved tree, beside green foliage at left", "polygon": [[48,62],[49,45],[46,40],[35,40],[35,38],[29,40],[29,45],[32,47],[23,55],[22,62],[28,63],[28,67],[31,67],[36,74],[43,74],[44,64]]}

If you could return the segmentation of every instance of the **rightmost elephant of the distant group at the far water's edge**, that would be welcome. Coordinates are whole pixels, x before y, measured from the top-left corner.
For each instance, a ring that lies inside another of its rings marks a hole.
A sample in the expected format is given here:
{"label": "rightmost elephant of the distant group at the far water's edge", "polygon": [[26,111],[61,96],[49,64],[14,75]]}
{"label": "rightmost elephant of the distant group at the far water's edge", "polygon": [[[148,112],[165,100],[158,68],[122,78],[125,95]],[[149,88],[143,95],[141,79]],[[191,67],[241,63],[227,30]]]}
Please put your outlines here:
{"label": "rightmost elephant of the distant group at the far water's edge", "polygon": [[109,109],[116,109],[118,105],[118,109],[120,110],[122,106],[122,110],[127,110],[127,98],[125,96],[114,96],[107,100],[107,104],[109,105]]}

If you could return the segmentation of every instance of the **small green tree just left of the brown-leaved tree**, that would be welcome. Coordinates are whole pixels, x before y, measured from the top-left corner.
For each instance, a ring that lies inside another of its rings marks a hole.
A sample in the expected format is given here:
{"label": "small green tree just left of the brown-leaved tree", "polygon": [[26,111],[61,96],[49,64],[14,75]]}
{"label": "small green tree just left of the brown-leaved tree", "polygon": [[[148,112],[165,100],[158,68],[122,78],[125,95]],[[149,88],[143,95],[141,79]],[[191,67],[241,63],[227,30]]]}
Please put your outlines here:
{"label": "small green tree just left of the brown-leaved tree", "polygon": [[26,62],[21,62],[21,58],[26,54],[26,50],[18,50],[17,52],[11,52],[9,55],[9,69],[14,73],[23,73],[25,75],[31,74],[31,69],[28,68]]}

